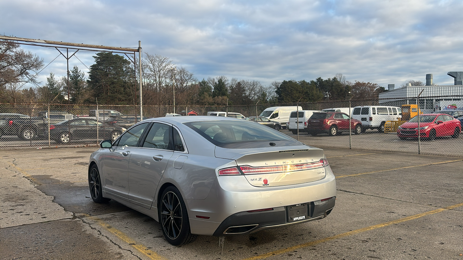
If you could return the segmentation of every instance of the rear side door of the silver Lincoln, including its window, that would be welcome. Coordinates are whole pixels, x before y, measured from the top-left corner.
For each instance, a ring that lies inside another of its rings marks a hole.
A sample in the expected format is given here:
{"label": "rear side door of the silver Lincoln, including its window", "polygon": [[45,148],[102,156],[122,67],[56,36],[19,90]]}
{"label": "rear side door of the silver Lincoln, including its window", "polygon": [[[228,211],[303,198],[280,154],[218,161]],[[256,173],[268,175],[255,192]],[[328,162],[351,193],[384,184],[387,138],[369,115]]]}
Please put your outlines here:
{"label": "rear side door of the silver Lincoln, including its window", "polygon": [[174,154],[172,126],[153,123],[140,147],[131,150],[128,167],[129,201],[150,208],[157,185]]}

